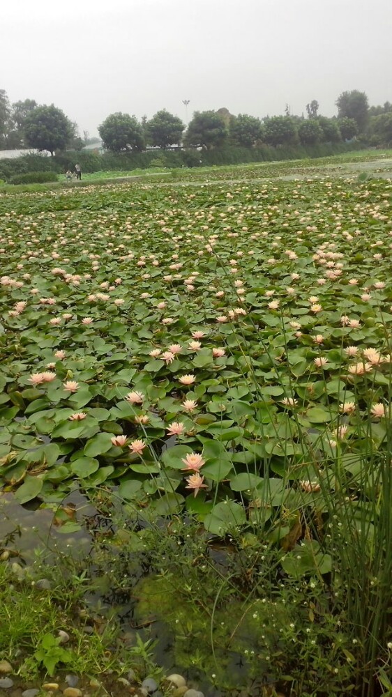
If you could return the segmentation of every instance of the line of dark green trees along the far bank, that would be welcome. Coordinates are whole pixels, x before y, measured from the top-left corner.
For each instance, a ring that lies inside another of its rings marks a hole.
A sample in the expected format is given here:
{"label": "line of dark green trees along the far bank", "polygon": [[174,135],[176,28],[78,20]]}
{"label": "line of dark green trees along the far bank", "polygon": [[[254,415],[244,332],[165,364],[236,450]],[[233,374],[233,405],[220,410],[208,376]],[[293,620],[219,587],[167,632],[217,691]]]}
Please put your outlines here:
{"label": "line of dark green trees along the far bank", "polygon": [[[146,146],[169,148],[211,148],[225,145],[252,147],[316,145],[338,143],[358,137],[372,146],[392,144],[392,105],[369,106],[368,97],[358,90],[342,92],[336,100],[338,115],[319,114],[319,103],[306,105],[306,116],[290,114],[257,118],[234,116],[227,109],[194,112],[188,127],[181,118],[161,109],[150,119],[116,112],[105,118],[98,132],[107,151],[142,152]],[[0,149],[36,148],[39,151],[80,150],[88,141],[80,137],[77,124],[54,105],[38,105],[27,99],[10,105],[0,90]]]}

